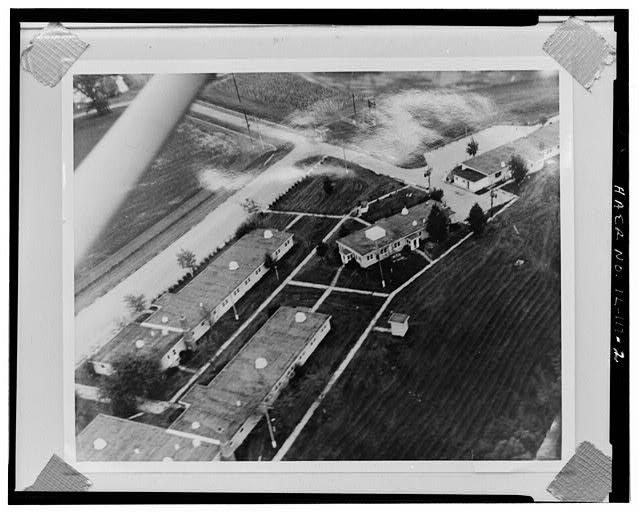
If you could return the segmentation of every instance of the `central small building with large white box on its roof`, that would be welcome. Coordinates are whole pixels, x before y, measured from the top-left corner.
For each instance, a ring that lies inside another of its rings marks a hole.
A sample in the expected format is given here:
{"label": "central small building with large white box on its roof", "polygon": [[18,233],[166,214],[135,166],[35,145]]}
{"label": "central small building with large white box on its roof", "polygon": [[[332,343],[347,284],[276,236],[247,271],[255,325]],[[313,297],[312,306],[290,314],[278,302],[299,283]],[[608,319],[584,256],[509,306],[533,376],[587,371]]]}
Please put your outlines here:
{"label": "central small building with large white box on its roof", "polygon": [[437,206],[446,216],[451,211],[441,202],[427,200],[398,214],[378,220],[375,225],[357,230],[338,239],[338,251],[343,264],[355,260],[363,268],[400,252],[408,247],[416,250],[420,241],[428,237],[427,219]]}

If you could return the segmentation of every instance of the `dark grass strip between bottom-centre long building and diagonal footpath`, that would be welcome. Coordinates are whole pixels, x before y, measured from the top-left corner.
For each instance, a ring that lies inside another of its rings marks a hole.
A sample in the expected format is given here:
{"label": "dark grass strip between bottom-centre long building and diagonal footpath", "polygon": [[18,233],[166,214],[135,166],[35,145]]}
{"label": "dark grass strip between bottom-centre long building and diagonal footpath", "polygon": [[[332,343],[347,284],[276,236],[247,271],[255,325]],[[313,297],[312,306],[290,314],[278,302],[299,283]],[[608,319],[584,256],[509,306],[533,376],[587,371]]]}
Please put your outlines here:
{"label": "dark grass strip between bottom-centre long building and diagonal footpath", "polygon": [[[271,417],[275,418],[278,443],[282,444],[300,421],[383,302],[383,298],[333,292],[319,307],[318,312],[331,315],[331,331],[273,405]],[[261,455],[269,460],[275,451],[263,420],[238,448],[236,458],[258,460]]]}

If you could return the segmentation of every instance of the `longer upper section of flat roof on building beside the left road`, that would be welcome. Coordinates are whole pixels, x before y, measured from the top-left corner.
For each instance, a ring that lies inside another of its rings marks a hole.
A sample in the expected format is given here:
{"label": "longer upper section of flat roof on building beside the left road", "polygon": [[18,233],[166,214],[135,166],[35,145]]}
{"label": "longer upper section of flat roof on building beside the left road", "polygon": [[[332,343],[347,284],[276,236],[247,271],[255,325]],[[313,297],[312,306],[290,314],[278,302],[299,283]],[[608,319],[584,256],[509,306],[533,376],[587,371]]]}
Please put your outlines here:
{"label": "longer upper section of flat roof on building beside the left road", "polygon": [[[160,309],[143,323],[180,328],[180,317],[184,316],[189,328],[196,326],[203,319],[200,303],[213,310],[264,262],[267,252],[275,252],[293,235],[281,230],[268,230],[272,234],[270,238],[264,237],[265,229],[256,229],[242,236],[180,291],[167,293],[154,302]],[[229,269],[232,261],[238,263],[235,270]],[[167,322],[163,322],[165,316]]]}

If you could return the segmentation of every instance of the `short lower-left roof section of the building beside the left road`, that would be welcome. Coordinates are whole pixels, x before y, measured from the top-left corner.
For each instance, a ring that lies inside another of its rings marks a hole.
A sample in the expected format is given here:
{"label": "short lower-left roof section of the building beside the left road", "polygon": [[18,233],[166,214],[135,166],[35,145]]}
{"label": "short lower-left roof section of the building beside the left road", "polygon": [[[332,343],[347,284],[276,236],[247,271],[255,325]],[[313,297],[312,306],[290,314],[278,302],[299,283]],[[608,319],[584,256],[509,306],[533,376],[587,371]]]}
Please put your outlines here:
{"label": "short lower-left roof section of the building beside the left road", "polygon": [[180,340],[179,332],[167,332],[143,327],[133,322],[126,325],[91,358],[91,361],[112,363],[121,355],[132,354],[162,358]]}

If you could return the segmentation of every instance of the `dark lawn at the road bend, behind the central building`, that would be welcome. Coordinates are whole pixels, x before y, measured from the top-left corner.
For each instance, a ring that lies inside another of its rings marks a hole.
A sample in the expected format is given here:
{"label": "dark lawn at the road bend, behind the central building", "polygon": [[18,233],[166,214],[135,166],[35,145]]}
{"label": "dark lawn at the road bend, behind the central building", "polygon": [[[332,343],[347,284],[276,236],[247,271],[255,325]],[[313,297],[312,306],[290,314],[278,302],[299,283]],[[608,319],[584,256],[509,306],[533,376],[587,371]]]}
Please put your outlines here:
{"label": "dark lawn at the road bend, behind the central building", "polygon": [[[317,161],[317,158],[314,158]],[[309,166],[305,159],[299,167]],[[319,214],[347,214],[360,200],[373,200],[401,188],[402,182],[378,175],[362,166],[347,162],[345,173],[342,159],[327,157],[314,172],[293,186],[287,194],[271,206],[276,211],[313,212]],[[331,192],[325,191],[325,180],[331,183]]]}

